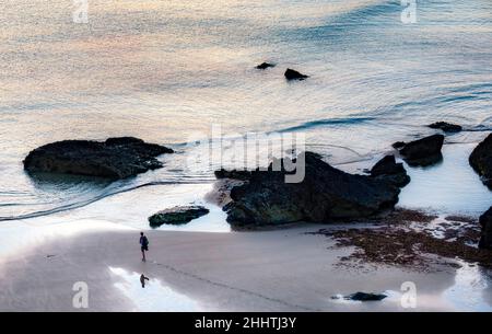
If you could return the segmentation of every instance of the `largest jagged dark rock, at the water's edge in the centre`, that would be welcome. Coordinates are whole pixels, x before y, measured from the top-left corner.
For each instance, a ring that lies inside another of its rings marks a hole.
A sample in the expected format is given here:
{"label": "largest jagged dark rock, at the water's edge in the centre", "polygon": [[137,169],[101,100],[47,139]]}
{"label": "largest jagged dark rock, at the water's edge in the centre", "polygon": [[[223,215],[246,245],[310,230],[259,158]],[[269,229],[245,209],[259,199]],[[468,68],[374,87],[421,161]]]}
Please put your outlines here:
{"label": "largest jagged dark rock, at the water's edge in the centre", "polygon": [[246,227],[353,220],[391,209],[398,201],[400,189],[387,181],[344,173],[313,152],[301,154],[305,159],[301,183],[286,183],[290,173],[283,168],[273,171],[270,164],[268,171],[253,171],[247,182],[233,187],[232,200],[224,206],[227,221]]}

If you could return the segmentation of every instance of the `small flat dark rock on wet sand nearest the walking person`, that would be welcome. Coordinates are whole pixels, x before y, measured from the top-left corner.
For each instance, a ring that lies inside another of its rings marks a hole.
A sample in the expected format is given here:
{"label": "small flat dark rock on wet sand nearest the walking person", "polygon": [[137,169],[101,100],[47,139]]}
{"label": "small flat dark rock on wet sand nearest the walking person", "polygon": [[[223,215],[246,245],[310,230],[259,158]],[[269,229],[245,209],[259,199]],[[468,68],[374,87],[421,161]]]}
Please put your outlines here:
{"label": "small flat dark rock on wet sand nearest the walking person", "polygon": [[162,210],[149,217],[149,222],[152,228],[157,228],[162,224],[184,224],[209,214],[209,209],[201,206],[183,206]]}

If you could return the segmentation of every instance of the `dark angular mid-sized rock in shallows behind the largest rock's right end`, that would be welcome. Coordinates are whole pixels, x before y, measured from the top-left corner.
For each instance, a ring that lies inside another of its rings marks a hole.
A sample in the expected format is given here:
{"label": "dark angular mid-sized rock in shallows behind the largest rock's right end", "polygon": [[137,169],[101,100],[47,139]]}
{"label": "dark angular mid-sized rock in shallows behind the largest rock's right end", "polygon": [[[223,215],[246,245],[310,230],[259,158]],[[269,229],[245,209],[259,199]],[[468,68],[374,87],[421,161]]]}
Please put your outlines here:
{"label": "dark angular mid-sized rock in shallows behind the largest rock's right end", "polygon": [[426,166],[443,160],[441,149],[443,148],[444,136],[434,135],[406,143],[400,149],[400,154],[409,165]]}

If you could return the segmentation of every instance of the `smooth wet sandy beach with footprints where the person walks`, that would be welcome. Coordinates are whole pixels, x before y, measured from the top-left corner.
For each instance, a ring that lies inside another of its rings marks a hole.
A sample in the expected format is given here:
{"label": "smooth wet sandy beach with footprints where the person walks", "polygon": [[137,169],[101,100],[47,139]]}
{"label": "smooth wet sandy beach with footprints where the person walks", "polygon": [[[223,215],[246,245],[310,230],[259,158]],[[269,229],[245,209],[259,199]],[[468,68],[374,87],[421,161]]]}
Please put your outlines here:
{"label": "smooth wet sandy beach with footprints where the person walks", "polygon": [[[350,247],[286,230],[206,233],[151,231],[147,263],[138,231],[54,233],[13,250],[1,263],[1,311],[454,311],[491,308],[492,291],[473,267],[430,272],[389,266],[339,266]],[[150,278],[140,287],[139,277]],[[473,276],[475,275],[475,276]],[[470,280],[472,285],[470,286]],[[467,281],[468,280],[468,281]],[[72,306],[73,284],[89,287],[89,308]],[[401,284],[418,288],[417,308],[400,304]],[[335,300],[383,292],[380,302]]]}

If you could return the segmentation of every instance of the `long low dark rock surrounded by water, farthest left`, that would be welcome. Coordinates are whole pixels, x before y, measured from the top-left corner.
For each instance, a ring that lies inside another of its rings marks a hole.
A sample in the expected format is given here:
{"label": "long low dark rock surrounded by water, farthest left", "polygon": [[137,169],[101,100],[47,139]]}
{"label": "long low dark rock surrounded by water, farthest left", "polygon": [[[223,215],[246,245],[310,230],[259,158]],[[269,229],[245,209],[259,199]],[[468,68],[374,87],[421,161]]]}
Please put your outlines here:
{"label": "long low dark rock surrounded by water, farthest left", "polygon": [[163,153],[173,150],[132,137],[109,138],[104,142],[63,140],[31,151],[24,169],[117,180],[162,168],[155,157]]}

